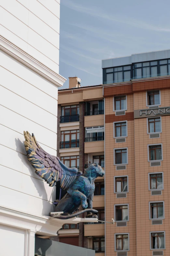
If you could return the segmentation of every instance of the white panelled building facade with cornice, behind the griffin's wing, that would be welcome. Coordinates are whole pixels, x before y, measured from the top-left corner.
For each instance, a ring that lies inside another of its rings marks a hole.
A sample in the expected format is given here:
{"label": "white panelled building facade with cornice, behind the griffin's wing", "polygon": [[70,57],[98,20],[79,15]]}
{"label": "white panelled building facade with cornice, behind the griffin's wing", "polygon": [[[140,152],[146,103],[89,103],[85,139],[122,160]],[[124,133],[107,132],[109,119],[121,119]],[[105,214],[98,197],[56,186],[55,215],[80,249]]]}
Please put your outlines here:
{"label": "white panelled building facade with cornice, behind the griffin's wing", "polygon": [[60,0],[0,3],[0,255],[33,256],[35,234],[55,235],[55,187],[27,160],[23,130],[56,155]]}

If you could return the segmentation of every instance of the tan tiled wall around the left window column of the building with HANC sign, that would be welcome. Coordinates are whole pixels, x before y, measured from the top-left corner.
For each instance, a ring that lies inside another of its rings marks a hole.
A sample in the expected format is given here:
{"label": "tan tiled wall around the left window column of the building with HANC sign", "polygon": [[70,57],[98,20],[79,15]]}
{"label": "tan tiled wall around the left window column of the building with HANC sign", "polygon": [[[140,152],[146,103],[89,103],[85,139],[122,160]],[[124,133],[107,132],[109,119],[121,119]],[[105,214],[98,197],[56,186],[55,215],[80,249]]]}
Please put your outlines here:
{"label": "tan tiled wall around the left window column of the building with HANC sign", "polygon": [[[105,114],[113,114],[113,97],[105,98]],[[134,111],[133,95],[127,95],[127,111]],[[114,120],[113,120],[114,121]],[[105,124],[105,181],[106,181],[106,221],[114,218],[114,204],[129,204],[129,222],[127,227],[116,227],[106,224],[106,255],[116,256],[114,234],[130,233],[130,251],[128,256],[136,256],[136,219],[135,219],[135,148],[134,148],[134,121],[128,121],[128,137],[125,143],[116,143],[113,138],[113,122]],[[128,165],[126,170],[116,171],[114,166],[113,149],[128,147]],[[127,198],[116,198],[114,194],[114,176],[128,175],[129,193]]]}

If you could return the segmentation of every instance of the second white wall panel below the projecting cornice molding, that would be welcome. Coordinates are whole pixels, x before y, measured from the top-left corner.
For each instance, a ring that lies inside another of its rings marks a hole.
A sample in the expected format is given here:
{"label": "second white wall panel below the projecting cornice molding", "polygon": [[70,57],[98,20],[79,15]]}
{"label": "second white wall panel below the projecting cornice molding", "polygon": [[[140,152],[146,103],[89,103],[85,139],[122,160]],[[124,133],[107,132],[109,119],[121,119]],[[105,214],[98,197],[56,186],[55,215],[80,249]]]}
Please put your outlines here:
{"label": "second white wall panel below the projecting cornice molding", "polygon": [[57,100],[0,66],[0,85],[57,116]]}

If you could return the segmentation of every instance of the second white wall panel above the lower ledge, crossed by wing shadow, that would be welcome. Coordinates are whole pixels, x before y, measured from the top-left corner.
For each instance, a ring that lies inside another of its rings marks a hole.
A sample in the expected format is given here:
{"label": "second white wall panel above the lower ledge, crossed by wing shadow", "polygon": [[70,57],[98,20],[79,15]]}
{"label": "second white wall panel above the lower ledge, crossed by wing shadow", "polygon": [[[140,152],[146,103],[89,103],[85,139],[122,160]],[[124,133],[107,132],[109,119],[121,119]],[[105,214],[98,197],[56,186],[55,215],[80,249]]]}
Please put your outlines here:
{"label": "second white wall panel above the lower ledge, crossed by wing shadow", "polygon": [[[1,165],[0,176],[3,177],[3,179],[0,179],[0,186],[6,186],[11,190],[16,190],[26,195],[38,197],[50,202],[54,202],[55,200],[55,186],[50,187],[49,184],[40,179],[35,179],[32,176],[25,175]],[[5,180],[6,183],[4,182]]]}

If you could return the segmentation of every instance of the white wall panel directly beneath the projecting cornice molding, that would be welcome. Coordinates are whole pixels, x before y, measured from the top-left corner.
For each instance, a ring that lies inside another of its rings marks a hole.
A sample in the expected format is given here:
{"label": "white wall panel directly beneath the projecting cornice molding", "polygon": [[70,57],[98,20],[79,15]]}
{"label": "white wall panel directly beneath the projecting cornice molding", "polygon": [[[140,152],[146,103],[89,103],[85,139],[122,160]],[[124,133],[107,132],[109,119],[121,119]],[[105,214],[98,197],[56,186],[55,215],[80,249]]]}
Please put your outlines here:
{"label": "white wall panel directly beneath the projecting cornice molding", "polygon": [[43,92],[49,94],[53,98],[57,99],[57,87],[52,84],[47,79],[41,77],[28,67],[25,67],[19,61],[9,57],[6,53],[0,50],[0,66],[6,68],[10,72],[16,74],[18,77],[21,77],[23,80],[27,81],[28,83],[34,85],[38,89],[42,90]]}

